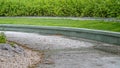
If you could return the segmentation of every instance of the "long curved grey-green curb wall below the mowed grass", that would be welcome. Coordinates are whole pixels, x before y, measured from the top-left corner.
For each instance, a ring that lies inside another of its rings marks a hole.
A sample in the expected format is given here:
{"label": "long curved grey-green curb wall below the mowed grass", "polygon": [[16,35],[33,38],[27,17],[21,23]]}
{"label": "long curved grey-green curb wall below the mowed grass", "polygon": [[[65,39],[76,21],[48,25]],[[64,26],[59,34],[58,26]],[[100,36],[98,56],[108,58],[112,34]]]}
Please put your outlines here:
{"label": "long curved grey-green curb wall below the mowed grass", "polygon": [[58,34],[72,37],[96,40],[100,42],[120,45],[120,32],[93,30],[85,28],[68,28],[52,26],[9,25],[1,24],[0,31],[30,32],[39,34]]}

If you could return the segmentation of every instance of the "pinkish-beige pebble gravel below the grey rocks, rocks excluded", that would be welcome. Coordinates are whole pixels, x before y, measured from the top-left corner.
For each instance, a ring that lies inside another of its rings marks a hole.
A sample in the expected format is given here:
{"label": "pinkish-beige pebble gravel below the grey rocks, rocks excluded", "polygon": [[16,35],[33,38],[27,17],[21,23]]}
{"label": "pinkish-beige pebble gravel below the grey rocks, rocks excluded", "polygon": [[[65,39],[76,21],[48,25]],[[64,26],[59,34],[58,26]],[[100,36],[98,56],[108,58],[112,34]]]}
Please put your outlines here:
{"label": "pinkish-beige pebble gravel below the grey rocks, rocks excluded", "polygon": [[0,50],[0,68],[28,68],[33,64],[41,61],[41,56],[37,52],[25,49],[25,55],[10,53],[5,50]]}

